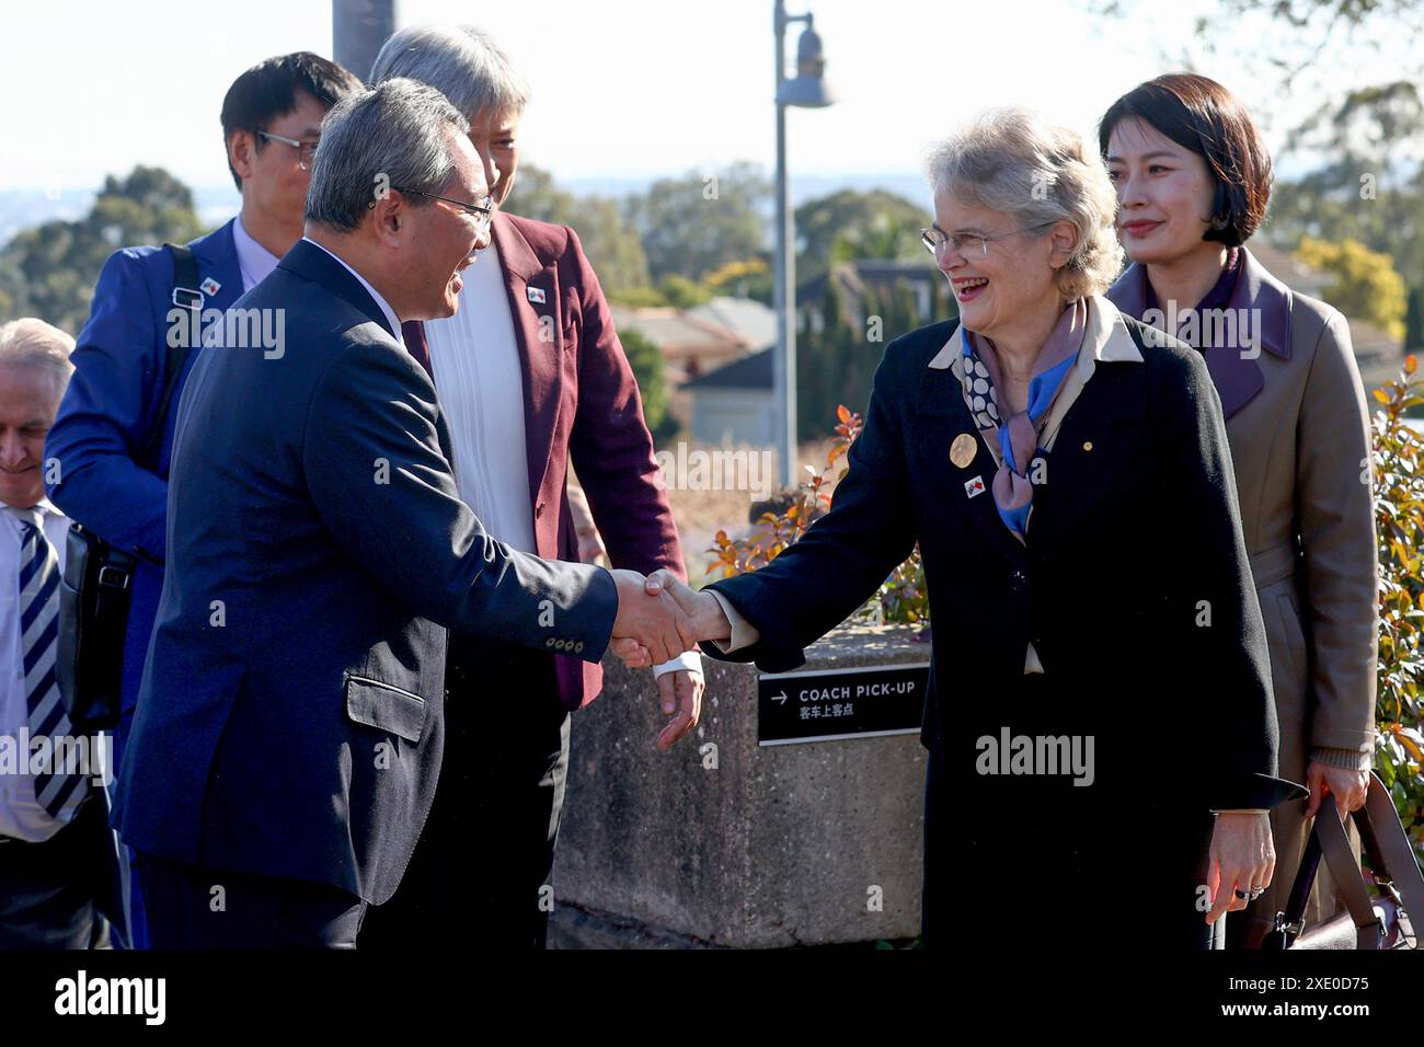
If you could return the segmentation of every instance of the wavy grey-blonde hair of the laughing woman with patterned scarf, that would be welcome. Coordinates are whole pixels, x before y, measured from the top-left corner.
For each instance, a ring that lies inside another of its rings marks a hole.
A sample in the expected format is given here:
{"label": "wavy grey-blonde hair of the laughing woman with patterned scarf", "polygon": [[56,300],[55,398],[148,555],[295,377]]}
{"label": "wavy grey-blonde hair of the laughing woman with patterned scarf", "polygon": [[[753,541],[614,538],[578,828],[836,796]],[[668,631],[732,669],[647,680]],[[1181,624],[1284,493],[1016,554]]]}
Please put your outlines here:
{"label": "wavy grey-blonde hair of the laughing woman with patterned scarf", "polygon": [[1072,255],[1057,272],[1069,301],[1101,295],[1122,269],[1118,195],[1077,131],[1025,108],[990,110],[930,150],[926,175],[936,192],[1014,215],[1020,226],[1072,222]]}

